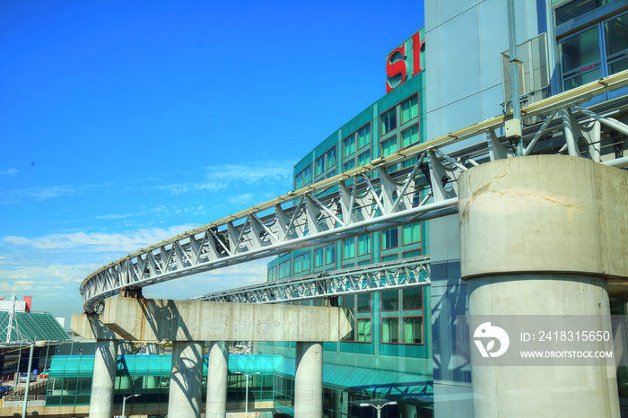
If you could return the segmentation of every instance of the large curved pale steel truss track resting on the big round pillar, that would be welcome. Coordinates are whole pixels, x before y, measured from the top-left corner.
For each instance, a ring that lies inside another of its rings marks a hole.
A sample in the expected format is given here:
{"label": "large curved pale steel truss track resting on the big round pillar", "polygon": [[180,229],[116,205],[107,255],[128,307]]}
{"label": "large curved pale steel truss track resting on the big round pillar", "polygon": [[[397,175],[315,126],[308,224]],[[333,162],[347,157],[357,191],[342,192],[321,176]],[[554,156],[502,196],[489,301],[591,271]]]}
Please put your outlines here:
{"label": "large curved pale steel truss track resting on the big round pillar", "polygon": [[[601,144],[607,132],[628,135],[628,126],[609,116],[623,113],[627,100],[591,109],[581,104],[624,85],[628,85],[628,70],[522,108],[524,123],[531,124],[523,129],[524,155],[547,143],[550,149],[544,152],[602,161]],[[83,308],[98,312],[102,300],[125,288],[456,213],[459,173],[484,161],[513,156],[514,144],[498,136],[510,118],[500,116],[458,129],[143,248],[85,278],[80,286]],[[478,135],[487,137],[479,146],[473,140],[462,151],[449,155],[440,151]],[[554,149],[557,137],[563,143]],[[624,167],[628,158],[604,163]]]}

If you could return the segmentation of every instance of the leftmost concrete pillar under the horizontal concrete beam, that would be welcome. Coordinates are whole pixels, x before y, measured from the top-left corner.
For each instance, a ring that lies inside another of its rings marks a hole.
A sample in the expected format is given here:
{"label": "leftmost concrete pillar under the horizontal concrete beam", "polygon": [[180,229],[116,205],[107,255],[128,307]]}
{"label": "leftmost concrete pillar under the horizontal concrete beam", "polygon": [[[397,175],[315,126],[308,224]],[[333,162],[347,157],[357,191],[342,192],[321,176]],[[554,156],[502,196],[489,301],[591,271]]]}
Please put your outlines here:
{"label": "leftmost concrete pillar under the horizontal concrete beam", "polygon": [[118,340],[96,340],[90,418],[113,416],[113,389],[118,364]]}

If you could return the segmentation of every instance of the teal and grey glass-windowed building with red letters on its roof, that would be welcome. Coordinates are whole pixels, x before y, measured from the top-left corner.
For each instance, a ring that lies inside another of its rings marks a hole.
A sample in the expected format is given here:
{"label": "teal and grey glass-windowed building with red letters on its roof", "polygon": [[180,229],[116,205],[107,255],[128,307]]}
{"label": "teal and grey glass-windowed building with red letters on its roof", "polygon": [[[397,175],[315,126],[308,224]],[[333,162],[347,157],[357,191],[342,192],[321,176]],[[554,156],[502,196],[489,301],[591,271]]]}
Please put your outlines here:
{"label": "teal and grey glass-windowed building with red letters on its roof", "polygon": [[[628,69],[628,2],[526,0],[514,5],[521,106]],[[387,57],[387,94],[294,166],[294,190],[510,112],[508,21],[505,1],[427,0],[425,27]],[[625,122],[626,93],[626,88],[604,93],[587,106],[608,104],[614,118]],[[541,122],[524,119],[524,129]],[[442,151],[454,158],[473,155],[481,163],[491,159],[486,142],[487,135],[478,135]],[[549,135],[533,153],[557,153],[564,144],[562,134]],[[624,134],[607,130],[601,160],[627,156],[626,145]],[[328,416],[363,416],[361,403],[385,399],[397,401],[382,411],[388,410],[388,416],[474,416],[471,367],[456,362],[468,342],[457,340],[453,327],[458,315],[468,314],[458,214],[304,248],[268,264],[272,282],[422,257],[430,260],[429,286],[340,298],[343,307],[355,309],[355,324],[352,335],[324,346]],[[624,315],[625,296],[612,294],[611,309]],[[258,345],[260,353],[286,358],[294,357],[294,348],[293,343]],[[367,370],[370,380],[342,379]],[[291,388],[293,370],[277,379],[280,390]],[[624,386],[620,376],[622,404]]]}

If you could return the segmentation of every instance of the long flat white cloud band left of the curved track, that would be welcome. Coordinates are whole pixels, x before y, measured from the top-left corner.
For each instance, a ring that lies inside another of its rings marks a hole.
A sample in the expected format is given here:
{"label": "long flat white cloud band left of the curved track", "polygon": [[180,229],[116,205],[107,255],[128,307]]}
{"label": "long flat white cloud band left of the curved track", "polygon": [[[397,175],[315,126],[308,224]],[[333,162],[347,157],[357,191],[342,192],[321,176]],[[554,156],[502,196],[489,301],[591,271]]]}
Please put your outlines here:
{"label": "long flat white cloud band left of the curved track", "polygon": [[30,246],[38,249],[81,248],[86,252],[135,252],[140,248],[161,242],[192,230],[197,225],[176,225],[168,229],[151,228],[116,233],[72,232],[57,233],[40,238],[4,237],[4,242],[13,246]]}

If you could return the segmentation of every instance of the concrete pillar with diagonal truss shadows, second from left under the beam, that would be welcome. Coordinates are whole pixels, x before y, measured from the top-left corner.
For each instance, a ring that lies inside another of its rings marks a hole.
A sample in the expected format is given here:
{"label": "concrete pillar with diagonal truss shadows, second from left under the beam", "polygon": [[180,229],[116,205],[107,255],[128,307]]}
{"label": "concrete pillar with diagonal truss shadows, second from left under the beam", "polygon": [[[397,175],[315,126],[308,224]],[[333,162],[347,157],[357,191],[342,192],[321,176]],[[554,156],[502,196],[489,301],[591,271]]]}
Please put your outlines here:
{"label": "concrete pillar with diagonal truss shadows, second from left under the beam", "polygon": [[199,341],[172,342],[170,372],[170,418],[199,418],[203,392],[203,360],[205,344]]}

